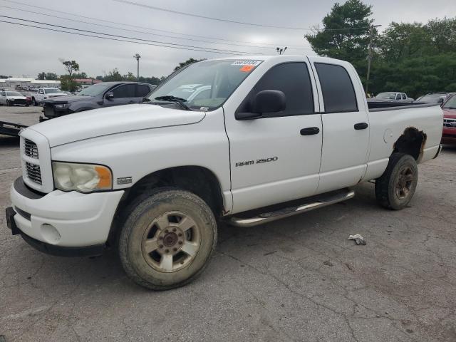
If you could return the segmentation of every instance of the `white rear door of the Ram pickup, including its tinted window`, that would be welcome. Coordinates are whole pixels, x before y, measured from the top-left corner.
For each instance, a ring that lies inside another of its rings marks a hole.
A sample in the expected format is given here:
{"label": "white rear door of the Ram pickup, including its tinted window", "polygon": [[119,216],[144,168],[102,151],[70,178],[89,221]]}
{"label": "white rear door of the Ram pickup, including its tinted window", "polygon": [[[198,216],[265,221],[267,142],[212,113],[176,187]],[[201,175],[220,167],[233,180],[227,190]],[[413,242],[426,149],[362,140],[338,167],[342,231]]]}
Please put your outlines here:
{"label": "white rear door of the Ram pickup, including its tinted window", "polygon": [[321,100],[323,147],[318,193],[356,185],[366,172],[369,121],[363,86],[351,64],[309,57]]}

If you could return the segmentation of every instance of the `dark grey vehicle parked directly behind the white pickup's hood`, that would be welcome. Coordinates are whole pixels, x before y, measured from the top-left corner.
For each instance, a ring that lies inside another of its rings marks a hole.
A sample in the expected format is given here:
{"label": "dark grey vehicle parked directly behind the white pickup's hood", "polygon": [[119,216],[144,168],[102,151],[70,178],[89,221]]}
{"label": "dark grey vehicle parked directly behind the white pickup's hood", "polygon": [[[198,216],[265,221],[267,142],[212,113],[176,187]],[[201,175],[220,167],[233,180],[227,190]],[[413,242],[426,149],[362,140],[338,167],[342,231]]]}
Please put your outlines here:
{"label": "dark grey vehicle parked directly behind the white pickup's hood", "polygon": [[102,82],[74,96],[61,96],[44,101],[44,118],[40,122],[83,110],[140,103],[155,86],[137,82]]}

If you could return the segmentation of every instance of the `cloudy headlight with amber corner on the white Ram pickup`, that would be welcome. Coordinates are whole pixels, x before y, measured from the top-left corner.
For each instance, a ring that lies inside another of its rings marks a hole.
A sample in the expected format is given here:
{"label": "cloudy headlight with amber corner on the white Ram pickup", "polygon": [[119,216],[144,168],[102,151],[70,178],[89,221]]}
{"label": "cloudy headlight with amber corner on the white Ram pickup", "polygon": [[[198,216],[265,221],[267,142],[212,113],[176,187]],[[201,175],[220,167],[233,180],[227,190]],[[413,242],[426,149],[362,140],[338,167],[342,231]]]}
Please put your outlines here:
{"label": "cloudy headlight with amber corner on the white Ram pickup", "polygon": [[63,191],[93,192],[111,190],[113,176],[108,167],[73,162],[52,162],[56,188]]}

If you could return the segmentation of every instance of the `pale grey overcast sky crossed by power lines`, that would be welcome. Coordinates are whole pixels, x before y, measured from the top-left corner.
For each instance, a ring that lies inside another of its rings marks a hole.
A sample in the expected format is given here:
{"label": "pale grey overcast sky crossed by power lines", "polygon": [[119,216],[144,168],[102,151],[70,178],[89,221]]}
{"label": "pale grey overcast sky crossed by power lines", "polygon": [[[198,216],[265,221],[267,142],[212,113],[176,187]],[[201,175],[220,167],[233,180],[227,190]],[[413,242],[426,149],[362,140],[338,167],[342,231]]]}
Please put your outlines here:
{"label": "pale grey overcast sky crossed by power lines", "polygon": [[[200,16],[228,19],[230,21],[294,28],[309,28],[316,24],[321,24],[323,16],[331,10],[331,6],[336,2],[327,0],[130,1]],[[18,2],[23,4],[18,4]],[[456,14],[456,1],[450,0],[370,0],[365,2],[373,5],[373,19],[375,19],[375,24],[382,24],[383,28],[391,21],[426,22],[428,19],[443,18],[444,16],[451,17]],[[15,7],[19,10],[7,9],[5,6]],[[41,8],[37,8],[36,6],[40,6]],[[55,11],[50,11],[49,9]],[[41,14],[48,14],[49,16],[26,11],[39,12]],[[277,44],[280,44],[280,46],[289,46],[286,52],[290,54],[312,53],[309,50],[309,43],[304,39],[304,34],[306,33],[304,30],[247,26],[212,21],[133,6],[131,4],[122,4],[114,0],[0,0],[0,15],[41,21],[46,24],[68,26],[87,31],[109,33],[117,36],[141,38],[147,41],[239,51],[239,54],[241,52],[274,54],[274,46]],[[74,15],[97,18],[98,21],[83,19]],[[63,18],[113,26],[115,28],[84,24]],[[4,17],[0,17],[0,20],[16,21]],[[106,21],[112,21],[118,24],[112,24]],[[22,22],[28,25],[37,25]],[[133,25],[135,27],[123,26],[121,24]],[[120,28],[145,33],[123,31]],[[93,77],[108,73],[113,68],[118,68],[120,73],[123,74],[128,71],[136,73],[136,61],[133,58],[133,54],[140,53],[142,56],[140,59],[140,75],[160,77],[168,75],[178,62],[185,61],[190,57],[216,58],[227,56],[226,53],[186,51],[122,41],[108,41],[5,23],[0,23],[0,32],[0,75],[36,77],[38,72],[41,71],[61,74],[64,71],[59,58],[76,60],[81,66],[81,71],[85,71],[89,76]],[[170,32],[184,33],[192,36],[182,36]],[[170,38],[169,36],[180,38]],[[207,43],[202,41],[215,40],[202,38],[202,36],[221,38],[229,41]],[[185,38],[200,41],[190,41]],[[238,45],[226,45],[226,43]]]}

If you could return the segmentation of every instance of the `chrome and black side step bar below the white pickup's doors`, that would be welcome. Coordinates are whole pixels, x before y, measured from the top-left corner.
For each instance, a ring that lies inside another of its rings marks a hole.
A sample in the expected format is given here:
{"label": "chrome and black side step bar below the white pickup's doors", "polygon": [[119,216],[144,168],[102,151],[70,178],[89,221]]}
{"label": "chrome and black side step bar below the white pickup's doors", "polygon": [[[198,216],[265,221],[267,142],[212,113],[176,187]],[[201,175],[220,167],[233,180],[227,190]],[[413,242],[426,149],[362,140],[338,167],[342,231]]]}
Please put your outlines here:
{"label": "chrome and black side step bar below the white pickup's doors", "polygon": [[303,199],[302,204],[295,204],[294,206],[284,207],[272,212],[264,212],[254,215],[254,217],[230,217],[228,223],[237,227],[253,227],[259,224],[275,221],[276,219],[283,219],[284,217],[290,217],[303,212],[309,212],[314,209],[326,207],[330,204],[351,199],[354,196],[355,192],[353,190],[344,189],[338,192],[330,192],[316,197],[311,197],[312,199],[307,199],[307,202],[306,199]]}

